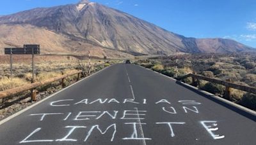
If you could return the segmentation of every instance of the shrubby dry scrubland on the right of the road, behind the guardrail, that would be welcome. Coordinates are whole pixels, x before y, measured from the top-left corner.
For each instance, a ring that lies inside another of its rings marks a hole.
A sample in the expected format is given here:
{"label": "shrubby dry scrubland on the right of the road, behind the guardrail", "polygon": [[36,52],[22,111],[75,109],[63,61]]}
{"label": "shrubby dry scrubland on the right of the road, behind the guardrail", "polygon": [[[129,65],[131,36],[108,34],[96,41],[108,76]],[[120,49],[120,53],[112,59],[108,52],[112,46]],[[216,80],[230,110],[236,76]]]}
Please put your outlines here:
{"label": "shrubby dry scrubland on the right of the road, behind the guardrail", "polygon": [[[178,59],[178,63],[176,63]],[[178,55],[170,57],[154,57],[147,60],[139,60],[136,64],[161,72],[167,76],[175,76],[177,66],[177,76],[183,76],[191,72],[196,72],[210,78],[221,80],[231,79],[232,82],[256,87],[256,53],[233,53],[225,54],[205,54],[205,55]],[[191,79],[185,79],[186,83],[191,83]],[[223,96],[225,87],[207,81],[200,81],[202,90]],[[241,90],[232,89],[232,101],[251,109],[256,109],[255,94],[246,93]]]}

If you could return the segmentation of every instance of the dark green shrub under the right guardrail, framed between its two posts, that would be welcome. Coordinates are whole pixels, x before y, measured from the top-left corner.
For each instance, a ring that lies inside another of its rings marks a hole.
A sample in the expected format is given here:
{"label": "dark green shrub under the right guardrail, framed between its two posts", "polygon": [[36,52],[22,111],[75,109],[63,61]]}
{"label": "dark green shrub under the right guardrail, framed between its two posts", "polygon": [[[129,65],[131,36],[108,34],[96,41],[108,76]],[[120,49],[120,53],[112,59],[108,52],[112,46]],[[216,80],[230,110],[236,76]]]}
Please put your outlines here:
{"label": "dark green shrub under the right guardrail, framed between its two posts", "polygon": [[224,92],[224,86],[214,84],[211,82],[205,83],[205,85],[201,88],[202,90],[205,90],[207,92],[213,93],[213,94],[223,94]]}

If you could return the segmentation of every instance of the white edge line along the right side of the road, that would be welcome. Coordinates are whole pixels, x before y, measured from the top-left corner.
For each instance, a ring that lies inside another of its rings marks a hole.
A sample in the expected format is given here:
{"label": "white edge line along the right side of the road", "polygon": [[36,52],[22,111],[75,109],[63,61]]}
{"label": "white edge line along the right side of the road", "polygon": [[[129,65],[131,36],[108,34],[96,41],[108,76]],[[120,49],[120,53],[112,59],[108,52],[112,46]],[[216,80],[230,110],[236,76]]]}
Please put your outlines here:
{"label": "white edge line along the right side of the road", "polygon": [[[139,66],[139,65],[137,65],[137,66]],[[148,68],[145,68],[145,67],[143,67],[143,66],[140,66],[140,67],[142,67],[142,68],[144,68],[144,69],[148,69]],[[148,69],[148,70],[153,71],[152,69]],[[156,71],[153,71],[153,72],[156,72]],[[174,79],[174,78],[171,78],[170,76],[166,76],[166,75],[164,75],[164,74],[161,74],[160,72],[156,72],[156,73],[157,73],[157,74],[160,74],[160,75],[162,75],[162,76],[165,76],[166,78],[172,79],[173,81],[178,81],[177,79]],[[182,82],[182,81],[179,81],[179,82],[182,83],[183,85],[189,86],[190,88],[193,88],[193,89],[197,90],[197,91],[200,92],[200,93],[204,93],[205,95],[209,95],[210,97],[213,97],[214,99],[217,99],[217,100],[220,100],[220,101],[222,101],[222,102],[225,102],[225,103],[227,103],[227,104],[229,104],[229,105],[231,105],[231,106],[233,106],[233,107],[236,107],[236,108],[238,108],[238,109],[241,109],[241,110],[245,111],[246,113],[250,113],[250,114],[256,116],[256,111],[253,111],[252,109],[249,109],[249,108],[247,108],[247,107],[241,106],[241,105],[236,104],[236,103],[234,103],[234,102],[231,102],[231,101],[229,101],[229,100],[227,100],[227,99],[223,99],[223,98],[221,98],[221,97],[218,97],[218,96],[214,95],[213,93],[209,93],[209,92],[206,92],[206,91],[204,91],[204,90],[200,90],[199,88],[196,88],[195,86],[189,85],[189,84],[184,83],[184,82]]]}

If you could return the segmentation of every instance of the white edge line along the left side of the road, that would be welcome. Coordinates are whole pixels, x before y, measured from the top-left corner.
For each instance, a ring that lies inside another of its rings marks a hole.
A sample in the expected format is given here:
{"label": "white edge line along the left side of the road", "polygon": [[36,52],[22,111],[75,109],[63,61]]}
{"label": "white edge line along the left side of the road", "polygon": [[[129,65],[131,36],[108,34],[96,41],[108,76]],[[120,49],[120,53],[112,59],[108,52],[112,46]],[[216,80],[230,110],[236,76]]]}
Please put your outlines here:
{"label": "white edge line along the left side of the road", "polygon": [[[113,66],[113,65],[112,65],[112,66]],[[111,66],[108,66],[108,67],[111,67]],[[107,69],[108,67],[105,67],[104,69]],[[49,95],[48,97],[45,97],[44,99],[42,99],[42,100],[36,102],[35,104],[32,104],[31,106],[28,106],[28,107],[25,107],[24,109],[21,109],[21,110],[18,111],[17,113],[14,113],[14,114],[12,114],[11,116],[8,116],[7,118],[1,120],[1,121],[0,121],[0,125],[3,125],[3,123],[5,123],[6,121],[12,120],[12,118],[15,118],[16,116],[19,116],[20,114],[22,114],[22,113],[28,111],[29,109],[31,109],[31,108],[37,106],[38,104],[44,102],[45,100],[50,99],[50,98],[53,97],[54,95],[57,95],[58,93],[62,92],[63,90],[66,90],[66,89],[70,88],[71,86],[77,85],[77,83],[80,83],[81,81],[84,81],[85,79],[90,78],[91,76],[93,76],[93,75],[95,75],[95,74],[97,74],[97,73],[103,71],[104,69],[101,69],[100,71],[97,71],[97,72],[93,73],[92,75],[87,76],[87,77],[85,77],[85,78],[83,78],[83,79],[77,81],[76,83],[73,83],[72,85],[67,86],[66,88],[63,88],[63,89],[59,90],[58,92],[52,93],[52,95]]]}

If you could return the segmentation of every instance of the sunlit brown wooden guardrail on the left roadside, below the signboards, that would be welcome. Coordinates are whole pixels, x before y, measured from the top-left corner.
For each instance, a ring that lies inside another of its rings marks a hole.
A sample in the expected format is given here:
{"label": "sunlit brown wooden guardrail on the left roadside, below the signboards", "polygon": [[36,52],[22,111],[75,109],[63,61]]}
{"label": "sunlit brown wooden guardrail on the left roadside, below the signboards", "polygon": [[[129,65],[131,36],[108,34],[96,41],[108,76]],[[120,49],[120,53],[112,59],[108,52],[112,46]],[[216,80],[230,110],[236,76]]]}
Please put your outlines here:
{"label": "sunlit brown wooden guardrail on the left roadside, below the signboards", "polygon": [[63,74],[61,76],[58,76],[56,78],[51,78],[51,79],[47,79],[45,81],[38,81],[35,83],[31,83],[28,85],[24,85],[24,86],[19,86],[17,88],[11,88],[9,90],[4,90],[3,92],[0,92],[0,99],[3,99],[5,97],[9,97],[11,95],[15,95],[17,93],[22,93],[28,90],[31,90],[31,100],[36,100],[36,90],[35,88],[39,87],[39,86],[44,86],[44,85],[48,85],[53,83],[54,81],[60,81],[61,80],[61,84],[62,86],[64,86],[64,80],[65,78],[69,77],[69,76],[74,76],[75,74],[77,74],[77,81],[80,79],[81,73],[83,71],[72,71],[72,72],[68,72],[67,74]]}

